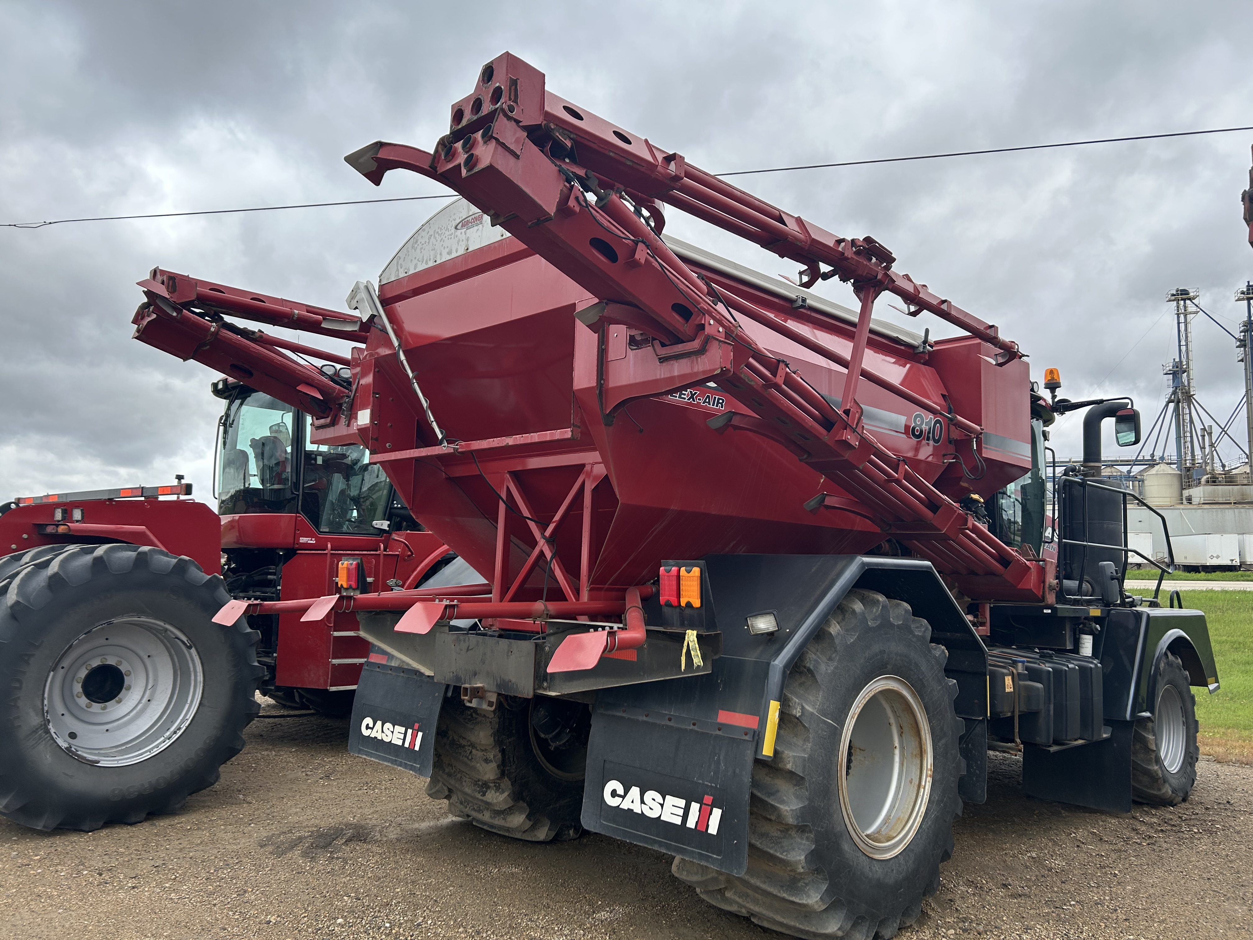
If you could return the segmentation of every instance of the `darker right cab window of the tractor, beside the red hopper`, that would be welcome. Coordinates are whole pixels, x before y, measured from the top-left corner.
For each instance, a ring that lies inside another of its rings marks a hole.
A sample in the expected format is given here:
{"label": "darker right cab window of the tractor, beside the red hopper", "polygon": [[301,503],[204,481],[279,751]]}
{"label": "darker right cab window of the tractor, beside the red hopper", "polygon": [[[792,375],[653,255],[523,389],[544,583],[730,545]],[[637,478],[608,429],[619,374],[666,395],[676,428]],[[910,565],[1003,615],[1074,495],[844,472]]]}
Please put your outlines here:
{"label": "darker right cab window of the tractor, beside the red hopper", "polygon": [[[304,440],[309,425],[306,415]],[[391,500],[391,483],[360,444],[306,446],[301,514],[318,531],[380,535],[375,523],[387,519]]]}

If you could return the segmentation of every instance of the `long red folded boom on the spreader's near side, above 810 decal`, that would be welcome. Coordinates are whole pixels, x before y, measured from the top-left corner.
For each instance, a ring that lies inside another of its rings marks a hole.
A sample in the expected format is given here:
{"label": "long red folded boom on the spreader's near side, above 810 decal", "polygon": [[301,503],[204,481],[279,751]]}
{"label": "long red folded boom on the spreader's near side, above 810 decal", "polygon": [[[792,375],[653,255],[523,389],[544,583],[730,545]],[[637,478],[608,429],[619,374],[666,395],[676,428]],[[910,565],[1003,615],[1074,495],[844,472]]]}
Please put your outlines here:
{"label": "long red folded boom on the spreader's near side, above 810 decal", "polygon": [[[907,384],[866,366],[871,312],[888,292],[961,327],[986,345],[985,358],[1017,361],[1019,347],[925,285],[892,269],[895,258],[872,238],[847,239],[791,216],[687,163],[589,110],[558,98],[544,75],[512,55],[487,65],[475,91],[452,107],[449,135],[435,153],[391,143],[346,158],[371,182],[392,169],[436,179],[482,208],[492,224],[605,302],[601,323],[620,323],[655,341],[652,394],[708,381],[749,414],[727,425],[774,440],[827,478],[840,495],[823,505],[871,520],[979,599],[1042,599],[1040,561],[1022,558],[964,511],[900,452],[866,429],[857,392],[873,382],[944,419],[944,445],[954,457],[979,461],[979,422]],[[838,277],[851,283],[861,312],[847,352],[813,338],[733,285],[715,286],[662,239],[664,202],[806,267],[806,286]],[[766,326],[845,370],[838,404],[801,370],[772,353],[738,317]],[[688,357],[682,368],[674,363]],[[925,353],[920,360],[925,360]],[[633,376],[633,386],[642,379]],[[605,381],[604,411],[620,404]],[[1014,394],[1026,402],[1022,379]]]}

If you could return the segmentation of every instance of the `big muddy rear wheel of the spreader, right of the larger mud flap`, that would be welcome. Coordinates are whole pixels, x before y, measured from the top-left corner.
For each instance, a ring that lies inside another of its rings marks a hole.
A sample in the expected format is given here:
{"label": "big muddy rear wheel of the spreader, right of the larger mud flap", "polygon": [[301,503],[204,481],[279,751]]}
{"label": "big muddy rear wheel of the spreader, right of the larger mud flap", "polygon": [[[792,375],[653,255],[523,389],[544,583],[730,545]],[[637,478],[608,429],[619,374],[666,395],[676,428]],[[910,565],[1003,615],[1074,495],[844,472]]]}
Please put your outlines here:
{"label": "big muddy rear wheel of the spreader, right of the larger mud flap", "polygon": [[961,815],[947,653],[908,604],[853,590],[788,673],[753,766],[748,871],[675,859],[710,904],[803,937],[891,937],[940,885]]}

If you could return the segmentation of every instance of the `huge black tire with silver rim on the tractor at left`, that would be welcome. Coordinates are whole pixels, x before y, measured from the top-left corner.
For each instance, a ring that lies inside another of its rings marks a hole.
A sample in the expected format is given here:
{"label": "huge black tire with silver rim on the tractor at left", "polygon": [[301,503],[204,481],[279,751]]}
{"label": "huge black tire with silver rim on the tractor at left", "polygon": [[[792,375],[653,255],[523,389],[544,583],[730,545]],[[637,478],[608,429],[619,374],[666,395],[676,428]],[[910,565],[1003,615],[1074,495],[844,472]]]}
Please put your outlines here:
{"label": "huge black tire with silver rim on the tractor at left", "polygon": [[189,558],[58,545],[0,559],[0,813],[90,831],[179,810],[257,714],[258,634]]}

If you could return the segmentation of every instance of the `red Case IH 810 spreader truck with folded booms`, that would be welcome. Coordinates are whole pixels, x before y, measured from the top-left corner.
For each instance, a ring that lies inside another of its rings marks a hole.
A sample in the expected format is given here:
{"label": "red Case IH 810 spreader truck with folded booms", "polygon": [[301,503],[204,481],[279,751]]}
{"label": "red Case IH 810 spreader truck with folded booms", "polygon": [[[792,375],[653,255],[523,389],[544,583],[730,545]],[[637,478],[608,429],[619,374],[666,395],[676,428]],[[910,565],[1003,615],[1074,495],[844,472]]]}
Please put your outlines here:
{"label": "red Case IH 810 spreader truck with folded booms", "polygon": [[[356,618],[373,645],[351,749],[495,832],[672,854],[702,897],[808,937],[918,915],[989,749],[1048,800],[1187,798],[1190,687],[1218,679],[1203,614],[1124,590],[1134,496],[1101,481],[1100,430],[1135,442],[1130,401],[1040,395],[1017,343],[873,238],[729,185],[510,54],[434,152],[346,159],[466,201],[351,292],[350,382],[222,316],[301,305],[158,269],[135,323],[307,412],[315,445],[363,447],[484,575],[216,612],[226,633]],[[665,237],[663,207],[803,286]],[[831,278],[856,311],[808,290]],[[872,318],[885,292],[962,335]],[[1085,467],[1050,496],[1045,427],[1079,407]]]}

